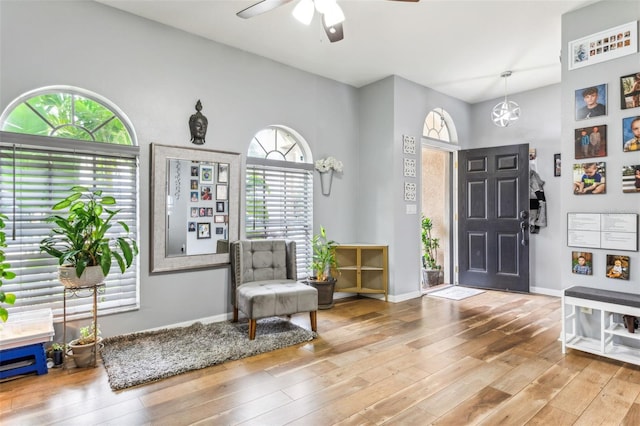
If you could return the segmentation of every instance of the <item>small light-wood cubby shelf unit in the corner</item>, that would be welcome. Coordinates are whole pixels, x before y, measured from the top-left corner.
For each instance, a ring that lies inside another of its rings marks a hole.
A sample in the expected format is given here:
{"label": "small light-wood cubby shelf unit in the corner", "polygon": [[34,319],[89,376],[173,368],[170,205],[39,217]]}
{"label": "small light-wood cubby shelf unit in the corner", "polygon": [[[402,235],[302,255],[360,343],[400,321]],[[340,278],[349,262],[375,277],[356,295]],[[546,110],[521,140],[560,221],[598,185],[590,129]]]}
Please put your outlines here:
{"label": "small light-wood cubby shelf unit in the corner", "polygon": [[336,247],[336,260],[340,274],[335,291],[384,294],[387,301],[388,246],[340,244]]}

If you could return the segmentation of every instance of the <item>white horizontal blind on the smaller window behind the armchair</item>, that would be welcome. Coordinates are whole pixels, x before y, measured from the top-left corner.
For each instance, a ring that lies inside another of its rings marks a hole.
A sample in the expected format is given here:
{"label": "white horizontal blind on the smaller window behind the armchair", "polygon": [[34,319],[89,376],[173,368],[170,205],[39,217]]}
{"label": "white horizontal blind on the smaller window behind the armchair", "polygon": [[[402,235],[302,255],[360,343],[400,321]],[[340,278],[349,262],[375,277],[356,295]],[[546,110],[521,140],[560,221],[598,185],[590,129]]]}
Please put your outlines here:
{"label": "white horizontal blind on the smaller window behind the armchair", "polygon": [[245,185],[246,237],[295,241],[300,279],[309,275],[313,233],[313,170],[304,166],[247,164]]}

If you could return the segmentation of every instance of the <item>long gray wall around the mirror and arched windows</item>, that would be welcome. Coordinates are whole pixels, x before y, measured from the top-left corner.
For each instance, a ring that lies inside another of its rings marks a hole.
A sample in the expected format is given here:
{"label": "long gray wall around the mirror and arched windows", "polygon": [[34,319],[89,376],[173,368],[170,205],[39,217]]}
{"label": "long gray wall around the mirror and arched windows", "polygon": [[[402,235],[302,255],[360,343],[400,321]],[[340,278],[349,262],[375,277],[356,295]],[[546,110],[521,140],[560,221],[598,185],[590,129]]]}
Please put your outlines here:
{"label": "long gray wall around the mirror and arched windows", "polygon": [[0,110],[29,90],[68,84],[99,93],[131,119],[140,156],[140,310],[100,319],[105,336],[226,316],[229,268],[149,274],[149,145],[188,147],[198,99],[206,149],[244,154],[268,125],[301,134],[314,158],[344,163],[330,197],[314,188],[314,223],[356,238],[358,97],[353,87],[95,2],[0,2]]}

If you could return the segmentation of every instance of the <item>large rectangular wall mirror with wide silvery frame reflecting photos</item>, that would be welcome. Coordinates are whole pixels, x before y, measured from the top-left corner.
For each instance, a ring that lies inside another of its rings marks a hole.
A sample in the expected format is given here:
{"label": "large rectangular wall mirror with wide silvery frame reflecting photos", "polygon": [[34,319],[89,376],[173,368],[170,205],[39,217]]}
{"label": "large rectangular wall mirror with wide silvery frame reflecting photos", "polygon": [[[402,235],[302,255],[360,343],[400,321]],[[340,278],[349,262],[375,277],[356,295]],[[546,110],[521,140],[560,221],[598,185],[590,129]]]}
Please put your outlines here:
{"label": "large rectangular wall mirror with wide silvery frame reflecting photos", "polygon": [[151,144],[151,272],[229,263],[240,154]]}

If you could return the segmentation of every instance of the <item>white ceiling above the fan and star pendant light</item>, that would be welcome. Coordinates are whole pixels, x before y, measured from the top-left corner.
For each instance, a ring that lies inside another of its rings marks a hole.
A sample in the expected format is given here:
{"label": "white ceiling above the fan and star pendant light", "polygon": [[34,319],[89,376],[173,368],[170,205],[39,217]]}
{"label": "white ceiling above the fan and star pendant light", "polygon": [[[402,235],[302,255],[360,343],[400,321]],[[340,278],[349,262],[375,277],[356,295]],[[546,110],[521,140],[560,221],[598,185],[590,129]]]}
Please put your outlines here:
{"label": "white ceiling above the fan and star pendant light", "polygon": [[257,0],[97,0],[217,42],[361,87],[398,75],[477,103],[560,82],[561,15],[593,0],[338,0],[344,40],[330,43],[297,0],[251,19]]}

